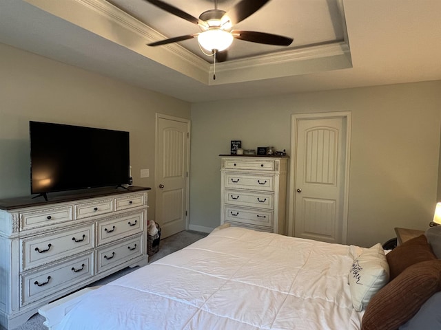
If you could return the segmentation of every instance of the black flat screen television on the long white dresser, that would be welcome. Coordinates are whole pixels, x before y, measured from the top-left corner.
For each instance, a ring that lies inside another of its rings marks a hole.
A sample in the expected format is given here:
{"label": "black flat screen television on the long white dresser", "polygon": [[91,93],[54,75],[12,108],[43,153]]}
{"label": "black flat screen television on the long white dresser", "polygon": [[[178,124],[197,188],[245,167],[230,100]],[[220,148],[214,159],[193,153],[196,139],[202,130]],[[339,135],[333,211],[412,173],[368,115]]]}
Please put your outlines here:
{"label": "black flat screen television on the long white dresser", "polygon": [[[29,122],[31,194],[129,183],[129,132]],[[36,197],[38,197],[36,196]]]}

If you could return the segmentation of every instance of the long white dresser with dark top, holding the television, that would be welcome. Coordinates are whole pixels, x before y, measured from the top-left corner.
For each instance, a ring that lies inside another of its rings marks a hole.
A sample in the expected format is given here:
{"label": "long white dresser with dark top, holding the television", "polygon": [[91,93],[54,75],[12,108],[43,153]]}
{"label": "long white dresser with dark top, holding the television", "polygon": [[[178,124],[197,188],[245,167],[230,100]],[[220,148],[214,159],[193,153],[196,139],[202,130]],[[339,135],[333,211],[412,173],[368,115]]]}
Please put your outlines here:
{"label": "long white dresser with dark top, holding the television", "polygon": [[147,190],[1,200],[0,325],[13,329],[52,300],[146,265]]}

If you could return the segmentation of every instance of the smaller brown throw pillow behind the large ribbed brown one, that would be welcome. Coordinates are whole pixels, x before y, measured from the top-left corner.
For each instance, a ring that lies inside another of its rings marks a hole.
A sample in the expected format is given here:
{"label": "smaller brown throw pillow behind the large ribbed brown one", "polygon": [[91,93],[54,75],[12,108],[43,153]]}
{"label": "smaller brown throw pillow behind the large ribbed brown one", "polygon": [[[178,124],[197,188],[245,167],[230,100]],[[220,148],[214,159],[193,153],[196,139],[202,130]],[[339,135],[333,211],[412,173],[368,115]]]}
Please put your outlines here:
{"label": "smaller brown throw pillow behind the large ribbed brown one", "polygon": [[386,254],[389,263],[389,281],[396,278],[407,267],[421,261],[435,260],[436,256],[424,235],[409,239]]}

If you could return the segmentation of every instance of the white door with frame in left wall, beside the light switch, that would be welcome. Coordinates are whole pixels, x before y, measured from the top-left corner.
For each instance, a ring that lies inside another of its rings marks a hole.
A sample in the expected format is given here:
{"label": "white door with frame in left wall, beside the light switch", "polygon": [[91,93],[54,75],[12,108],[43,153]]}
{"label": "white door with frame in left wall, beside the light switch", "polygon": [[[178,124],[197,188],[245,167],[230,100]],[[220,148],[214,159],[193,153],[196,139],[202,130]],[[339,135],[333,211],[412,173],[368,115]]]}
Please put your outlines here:
{"label": "white door with frame in left wall, beside the light switch", "polygon": [[161,239],[187,228],[189,120],[156,115],[155,221]]}

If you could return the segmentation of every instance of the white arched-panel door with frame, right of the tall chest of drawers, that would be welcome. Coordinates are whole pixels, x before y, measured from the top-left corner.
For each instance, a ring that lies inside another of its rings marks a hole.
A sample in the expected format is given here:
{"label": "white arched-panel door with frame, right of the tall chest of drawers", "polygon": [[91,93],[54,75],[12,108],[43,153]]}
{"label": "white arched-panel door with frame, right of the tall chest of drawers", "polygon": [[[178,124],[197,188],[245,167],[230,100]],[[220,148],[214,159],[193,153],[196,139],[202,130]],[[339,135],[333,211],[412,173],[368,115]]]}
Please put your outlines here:
{"label": "white arched-panel door with frame, right of the tall chest of drawers", "polygon": [[347,116],[294,118],[294,236],[346,243]]}

